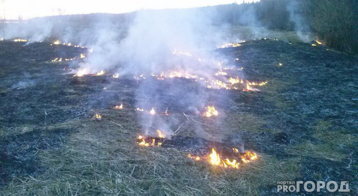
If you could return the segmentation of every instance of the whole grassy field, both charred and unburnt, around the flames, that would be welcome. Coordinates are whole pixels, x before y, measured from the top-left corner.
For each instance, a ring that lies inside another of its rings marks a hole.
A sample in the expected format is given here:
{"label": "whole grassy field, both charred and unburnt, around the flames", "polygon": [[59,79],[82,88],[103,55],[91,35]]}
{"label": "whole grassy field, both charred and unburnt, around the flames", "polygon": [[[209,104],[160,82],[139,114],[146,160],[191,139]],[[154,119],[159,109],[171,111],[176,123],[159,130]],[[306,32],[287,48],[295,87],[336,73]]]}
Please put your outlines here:
{"label": "whole grassy field, both charred and unburnt, around the flames", "polygon": [[[156,81],[150,92],[131,78],[73,77],[64,69],[78,59],[51,62],[85,52],[0,42],[0,193],[274,195],[278,180],[349,180],[348,195],[357,194],[357,58],[324,46],[250,41],[216,52],[244,67],[247,79],[268,81],[260,92],[203,90],[182,78]],[[222,115],[208,120],[183,109],[198,93]],[[137,147],[135,97],[162,100],[158,111],[178,120],[177,139]],[[119,103],[124,110],[113,109]],[[215,139],[260,160],[225,171],[186,157]]]}

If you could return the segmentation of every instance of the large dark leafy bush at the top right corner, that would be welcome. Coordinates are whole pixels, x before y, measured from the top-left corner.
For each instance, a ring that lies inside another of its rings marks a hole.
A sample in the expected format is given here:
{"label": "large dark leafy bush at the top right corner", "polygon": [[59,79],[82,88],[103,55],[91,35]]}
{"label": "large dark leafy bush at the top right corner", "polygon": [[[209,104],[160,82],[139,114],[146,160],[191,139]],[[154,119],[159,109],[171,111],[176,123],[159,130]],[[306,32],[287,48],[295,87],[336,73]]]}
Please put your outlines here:
{"label": "large dark leafy bush at the top right corner", "polygon": [[337,50],[358,53],[358,0],[317,0],[311,4],[311,26]]}

